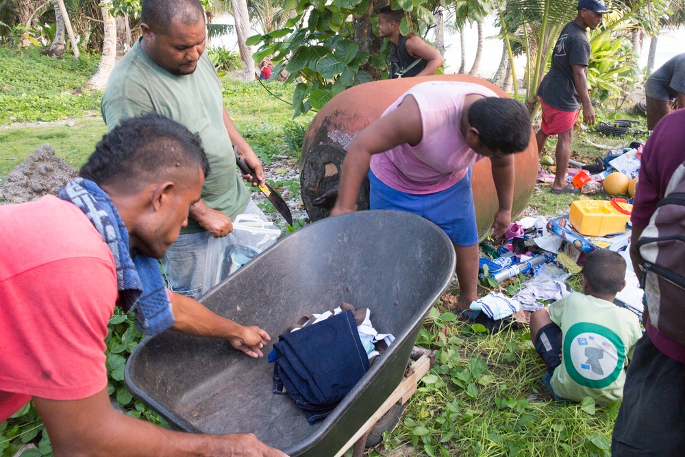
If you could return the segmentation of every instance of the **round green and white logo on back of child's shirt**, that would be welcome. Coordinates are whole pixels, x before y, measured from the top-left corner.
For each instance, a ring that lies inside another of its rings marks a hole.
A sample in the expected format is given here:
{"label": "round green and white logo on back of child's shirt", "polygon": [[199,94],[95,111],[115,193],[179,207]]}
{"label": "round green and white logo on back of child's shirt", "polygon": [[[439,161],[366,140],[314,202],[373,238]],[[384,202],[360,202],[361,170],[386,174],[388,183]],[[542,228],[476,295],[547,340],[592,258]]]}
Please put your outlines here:
{"label": "round green and white logo on back of child's shirt", "polygon": [[621,374],[624,360],[623,341],[603,325],[576,323],[564,335],[564,367],[581,386],[609,386]]}

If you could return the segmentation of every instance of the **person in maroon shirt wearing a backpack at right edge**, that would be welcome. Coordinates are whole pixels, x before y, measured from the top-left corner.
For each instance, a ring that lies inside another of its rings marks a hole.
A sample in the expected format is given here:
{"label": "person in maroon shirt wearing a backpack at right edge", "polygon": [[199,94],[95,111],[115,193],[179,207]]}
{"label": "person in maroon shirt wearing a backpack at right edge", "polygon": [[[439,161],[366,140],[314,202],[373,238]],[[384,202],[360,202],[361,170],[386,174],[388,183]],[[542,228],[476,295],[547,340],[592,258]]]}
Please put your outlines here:
{"label": "person in maroon shirt wearing a backpack at right edge", "polygon": [[645,271],[646,332],[628,368],[613,457],[682,456],[685,449],[684,125],[685,110],[665,116],[641,158],[630,257],[638,277]]}

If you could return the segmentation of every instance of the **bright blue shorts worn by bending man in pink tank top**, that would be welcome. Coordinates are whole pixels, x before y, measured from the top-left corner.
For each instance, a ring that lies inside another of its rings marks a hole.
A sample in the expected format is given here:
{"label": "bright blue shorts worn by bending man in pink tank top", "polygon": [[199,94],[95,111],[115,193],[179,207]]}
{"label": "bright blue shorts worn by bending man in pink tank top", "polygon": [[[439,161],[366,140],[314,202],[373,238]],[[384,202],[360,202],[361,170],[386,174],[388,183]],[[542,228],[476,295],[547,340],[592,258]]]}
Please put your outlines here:
{"label": "bright blue shorts worn by bending man in pink tank top", "polygon": [[371,171],[369,181],[369,207],[372,210],[399,210],[421,216],[443,229],[456,246],[478,243],[470,167],[457,184],[432,194],[409,194],[395,190]]}

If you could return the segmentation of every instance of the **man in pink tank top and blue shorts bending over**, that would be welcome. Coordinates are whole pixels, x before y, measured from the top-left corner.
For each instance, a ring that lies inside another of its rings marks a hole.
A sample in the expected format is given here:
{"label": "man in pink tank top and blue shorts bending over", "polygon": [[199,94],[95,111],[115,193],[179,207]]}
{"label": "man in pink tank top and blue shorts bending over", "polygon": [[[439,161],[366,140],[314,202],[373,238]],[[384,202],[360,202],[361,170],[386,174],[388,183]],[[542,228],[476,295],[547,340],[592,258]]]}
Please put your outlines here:
{"label": "man in pink tank top and blue shorts bending over", "polygon": [[352,141],[331,215],[356,209],[368,173],[372,210],[412,212],[445,230],[457,256],[457,306],[467,309],[477,299],[479,258],[471,166],[484,157],[492,162],[499,199],[493,229],[501,236],[511,222],[512,154],[527,147],[530,132],[523,103],[484,86],[417,84]]}

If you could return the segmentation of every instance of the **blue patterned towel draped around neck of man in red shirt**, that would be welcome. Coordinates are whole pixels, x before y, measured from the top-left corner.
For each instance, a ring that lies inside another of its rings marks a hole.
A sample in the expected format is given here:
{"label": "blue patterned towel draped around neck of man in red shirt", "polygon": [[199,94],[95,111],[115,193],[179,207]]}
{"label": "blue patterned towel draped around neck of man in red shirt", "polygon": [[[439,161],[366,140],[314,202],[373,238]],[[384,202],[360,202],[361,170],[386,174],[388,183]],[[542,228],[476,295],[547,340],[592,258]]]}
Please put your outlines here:
{"label": "blue patterned towel draped around neck of man in red shirt", "polygon": [[90,180],[77,177],[60,190],[60,199],[82,210],[112,251],[116,288],[124,312],[136,312],[136,327],[154,335],[171,327],[175,319],[157,259],[130,252],[128,230],[112,199]]}

